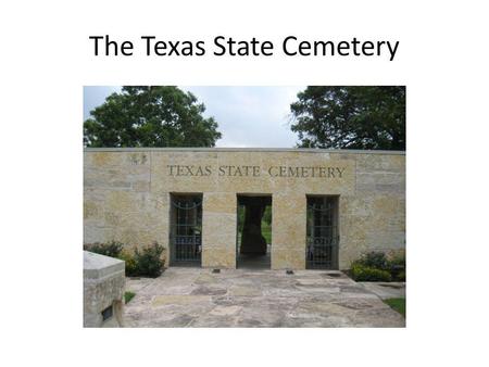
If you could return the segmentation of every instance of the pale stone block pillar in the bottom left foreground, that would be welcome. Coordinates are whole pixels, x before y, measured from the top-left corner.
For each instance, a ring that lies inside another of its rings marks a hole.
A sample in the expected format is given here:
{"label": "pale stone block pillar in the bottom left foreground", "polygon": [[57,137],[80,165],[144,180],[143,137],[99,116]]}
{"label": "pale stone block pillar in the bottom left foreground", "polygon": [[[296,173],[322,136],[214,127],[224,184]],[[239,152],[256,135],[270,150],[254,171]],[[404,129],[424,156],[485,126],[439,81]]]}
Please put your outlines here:
{"label": "pale stone block pillar in the bottom left foreground", "polygon": [[125,263],[84,251],[84,327],[123,327]]}

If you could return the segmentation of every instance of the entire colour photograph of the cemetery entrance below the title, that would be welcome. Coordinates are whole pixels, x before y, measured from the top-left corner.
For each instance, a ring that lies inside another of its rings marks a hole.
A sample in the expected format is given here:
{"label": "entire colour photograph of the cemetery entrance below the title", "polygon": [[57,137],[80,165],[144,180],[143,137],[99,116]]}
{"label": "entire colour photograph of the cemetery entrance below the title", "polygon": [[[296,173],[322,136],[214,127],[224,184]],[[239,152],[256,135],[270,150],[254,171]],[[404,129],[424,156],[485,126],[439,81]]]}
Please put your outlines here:
{"label": "entire colour photograph of the cemetery entrance below the title", "polygon": [[85,328],[405,328],[405,86],[84,86]]}

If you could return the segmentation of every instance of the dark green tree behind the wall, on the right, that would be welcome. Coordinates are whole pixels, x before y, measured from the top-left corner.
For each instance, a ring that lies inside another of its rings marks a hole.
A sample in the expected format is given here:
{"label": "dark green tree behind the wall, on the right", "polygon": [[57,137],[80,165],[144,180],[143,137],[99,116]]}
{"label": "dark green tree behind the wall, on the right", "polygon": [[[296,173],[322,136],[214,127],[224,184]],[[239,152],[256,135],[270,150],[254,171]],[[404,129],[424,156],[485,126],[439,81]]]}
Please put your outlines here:
{"label": "dark green tree behind the wall, on the right", "polygon": [[405,87],[308,87],[290,110],[299,147],[405,150]]}

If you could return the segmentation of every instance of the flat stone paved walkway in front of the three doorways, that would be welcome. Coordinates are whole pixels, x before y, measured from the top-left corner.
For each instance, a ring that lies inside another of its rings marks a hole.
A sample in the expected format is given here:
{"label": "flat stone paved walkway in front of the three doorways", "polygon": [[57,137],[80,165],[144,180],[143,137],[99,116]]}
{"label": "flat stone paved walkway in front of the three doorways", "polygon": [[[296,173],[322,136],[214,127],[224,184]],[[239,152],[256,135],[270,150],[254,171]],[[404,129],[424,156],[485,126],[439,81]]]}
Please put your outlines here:
{"label": "flat stone paved walkway in front of the three doorways", "polygon": [[167,269],[126,279],[127,327],[404,327],[404,318],[340,271]]}

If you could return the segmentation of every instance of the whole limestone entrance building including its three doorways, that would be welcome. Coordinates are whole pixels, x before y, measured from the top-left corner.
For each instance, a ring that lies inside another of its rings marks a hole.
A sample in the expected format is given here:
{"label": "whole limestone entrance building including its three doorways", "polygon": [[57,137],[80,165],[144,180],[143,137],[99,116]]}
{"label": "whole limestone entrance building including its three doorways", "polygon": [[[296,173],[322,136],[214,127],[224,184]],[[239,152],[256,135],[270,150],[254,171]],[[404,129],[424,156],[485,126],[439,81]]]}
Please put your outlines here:
{"label": "whole limestone entrance building including its three doorways", "polygon": [[405,245],[405,154],[86,149],[84,242],[166,248],[170,266],[349,268]]}

